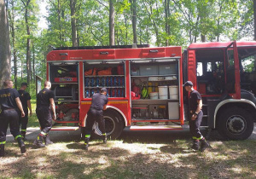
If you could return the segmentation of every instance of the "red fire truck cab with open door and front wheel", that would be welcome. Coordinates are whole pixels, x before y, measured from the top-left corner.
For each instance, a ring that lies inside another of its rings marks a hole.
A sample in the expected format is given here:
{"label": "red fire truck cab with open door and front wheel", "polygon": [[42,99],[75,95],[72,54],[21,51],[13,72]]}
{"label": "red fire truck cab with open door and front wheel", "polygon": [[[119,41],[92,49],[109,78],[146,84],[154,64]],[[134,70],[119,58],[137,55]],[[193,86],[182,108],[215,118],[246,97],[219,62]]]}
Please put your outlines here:
{"label": "red fire truck cab with open door and front wheel", "polygon": [[[256,114],[256,42],[192,43],[183,53],[183,80],[190,80],[203,101],[201,125],[224,138],[247,139]],[[253,64],[251,70],[246,69]],[[186,106],[187,97],[184,97]]]}

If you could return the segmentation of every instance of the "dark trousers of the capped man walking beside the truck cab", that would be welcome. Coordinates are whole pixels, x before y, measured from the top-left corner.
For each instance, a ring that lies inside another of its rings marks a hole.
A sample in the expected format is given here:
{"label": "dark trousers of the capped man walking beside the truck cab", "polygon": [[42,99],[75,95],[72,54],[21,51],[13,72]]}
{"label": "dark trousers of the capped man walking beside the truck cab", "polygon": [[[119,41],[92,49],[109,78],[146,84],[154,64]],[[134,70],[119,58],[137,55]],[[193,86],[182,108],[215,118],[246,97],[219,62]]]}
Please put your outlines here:
{"label": "dark trousers of the capped man walking beside the truck cab", "polygon": [[201,135],[201,132],[199,130],[199,127],[201,125],[201,120],[202,120],[203,113],[202,113],[202,111],[200,113],[198,113],[195,120],[191,120],[192,115],[193,115],[193,113],[189,113],[189,130],[190,130],[190,133],[191,133],[193,139],[201,139],[202,135]]}

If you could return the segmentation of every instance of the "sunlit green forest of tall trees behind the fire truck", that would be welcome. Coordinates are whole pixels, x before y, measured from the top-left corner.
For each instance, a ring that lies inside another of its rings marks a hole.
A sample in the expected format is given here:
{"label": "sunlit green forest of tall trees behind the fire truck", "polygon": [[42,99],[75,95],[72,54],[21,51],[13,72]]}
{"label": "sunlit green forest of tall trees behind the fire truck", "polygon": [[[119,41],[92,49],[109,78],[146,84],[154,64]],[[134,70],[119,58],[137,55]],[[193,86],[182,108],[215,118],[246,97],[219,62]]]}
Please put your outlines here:
{"label": "sunlit green forest of tall trees behind the fire truck", "polygon": [[255,40],[255,7],[256,0],[0,0],[0,81],[10,76],[16,89],[27,82],[34,96],[35,77],[46,78],[54,47],[186,49],[194,42]]}

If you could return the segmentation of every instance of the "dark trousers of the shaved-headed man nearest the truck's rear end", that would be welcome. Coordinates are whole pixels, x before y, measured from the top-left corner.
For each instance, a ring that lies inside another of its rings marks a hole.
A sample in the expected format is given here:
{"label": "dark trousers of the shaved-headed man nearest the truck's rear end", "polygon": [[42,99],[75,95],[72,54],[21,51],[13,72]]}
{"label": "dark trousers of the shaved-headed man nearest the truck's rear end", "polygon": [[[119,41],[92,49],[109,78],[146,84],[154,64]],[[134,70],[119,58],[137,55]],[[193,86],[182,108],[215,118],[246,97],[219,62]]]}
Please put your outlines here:
{"label": "dark trousers of the shaved-headed man nearest the truck's rear end", "polygon": [[41,131],[48,134],[52,127],[52,116],[49,107],[37,107],[36,113],[41,126]]}

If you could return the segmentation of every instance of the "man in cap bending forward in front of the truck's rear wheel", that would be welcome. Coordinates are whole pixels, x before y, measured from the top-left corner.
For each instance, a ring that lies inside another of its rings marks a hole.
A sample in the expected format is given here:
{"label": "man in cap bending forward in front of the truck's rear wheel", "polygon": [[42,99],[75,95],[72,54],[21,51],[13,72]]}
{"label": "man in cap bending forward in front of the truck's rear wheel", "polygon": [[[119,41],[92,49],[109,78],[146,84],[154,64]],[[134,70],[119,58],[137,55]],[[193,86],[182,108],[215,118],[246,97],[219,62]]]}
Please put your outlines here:
{"label": "man in cap bending forward in front of the truck's rear wheel", "polygon": [[103,143],[107,143],[107,135],[105,130],[105,119],[103,118],[103,110],[107,109],[108,104],[108,90],[102,88],[100,93],[92,95],[91,105],[89,112],[87,113],[86,125],[84,128],[84,149],[88,150],[90,134],[92,131],[93,124],[97,123],[99,129],[102,132]]}

